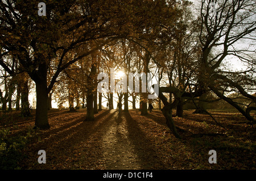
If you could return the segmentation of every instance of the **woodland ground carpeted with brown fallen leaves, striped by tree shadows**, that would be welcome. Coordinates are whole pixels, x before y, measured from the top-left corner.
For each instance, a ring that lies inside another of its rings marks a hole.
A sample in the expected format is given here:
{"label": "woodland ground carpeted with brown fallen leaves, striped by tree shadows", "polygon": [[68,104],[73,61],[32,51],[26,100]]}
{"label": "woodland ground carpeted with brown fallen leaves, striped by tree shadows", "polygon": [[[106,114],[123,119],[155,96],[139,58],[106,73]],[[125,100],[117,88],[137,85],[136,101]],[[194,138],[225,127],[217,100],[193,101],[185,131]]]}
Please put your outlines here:
{"label": "woodland ground carpeted with brown fallen leaves, striped by tree shadows", "polygon": [[[51,110],[51,128],[37,130],[20,150],[20,169],[255,169],[255,128],[240,113],[210,111],[209,115],[184,111],[174,117],[181,140],[168,129],[160,110],[146,116],[138,110],[118,113],[102,110],[94,121],[84,121],[86,110]],[[3,113],[2,113],[3,114]],[[20,117],[6,113],[1,129],[10,137],[27,133],[35,113]],[[2,115],[3,117],[3,115]],[[38,163],[38,151],[46,151],[46,164]],[[209,150],[217,151],[210,164]]]}

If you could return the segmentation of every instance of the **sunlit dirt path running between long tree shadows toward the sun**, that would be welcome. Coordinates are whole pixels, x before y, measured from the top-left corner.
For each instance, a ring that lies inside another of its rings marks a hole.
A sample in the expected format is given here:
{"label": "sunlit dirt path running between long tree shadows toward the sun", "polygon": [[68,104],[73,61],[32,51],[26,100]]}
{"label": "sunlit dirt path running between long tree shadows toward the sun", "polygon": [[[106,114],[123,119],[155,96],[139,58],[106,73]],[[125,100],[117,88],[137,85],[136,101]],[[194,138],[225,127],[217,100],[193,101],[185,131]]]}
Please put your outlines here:
{"label": "sunlit dirt path running between long tree shadows toward the sun", "polygon": [[129,140],[127,119],[123,113],[114,113],[108,121],[108,129],[102,137],[102,149],[106,161],[106,169],[141,169],[134,145]]}

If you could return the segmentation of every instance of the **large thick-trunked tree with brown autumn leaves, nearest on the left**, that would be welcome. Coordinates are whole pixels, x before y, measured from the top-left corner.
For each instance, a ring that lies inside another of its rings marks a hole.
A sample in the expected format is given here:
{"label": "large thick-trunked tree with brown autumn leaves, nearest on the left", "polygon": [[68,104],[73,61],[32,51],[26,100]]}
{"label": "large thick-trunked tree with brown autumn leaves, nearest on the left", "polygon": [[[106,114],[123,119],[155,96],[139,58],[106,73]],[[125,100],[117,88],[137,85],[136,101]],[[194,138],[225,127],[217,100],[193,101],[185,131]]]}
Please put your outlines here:
{"label": "large thick-trunked tree with brown autumn leaves, nearest on the left", "polygon": [[[109,9],[99,9],[102,3]],[[113,5],[111,1],[52,1],[47,3],[46,16],[38,16],[38,1],[30,1],[29,5],[23,1],[1,1],[0,65],[12,74],[2,59],[11,54],[35,82],[35,127],[49,128],[48,93],[61,71],[105,44],[104,40],[94,49],[88,49],[86,42],[113,36],[117,22],[110,20],[121,15],[116,11],[118,7]],[[79,47],[83,47],[82,51]],[[67,58],[73,50],[76,50],[75,56]],[[56,66],[47,84],[47,72],[52,61]]]}

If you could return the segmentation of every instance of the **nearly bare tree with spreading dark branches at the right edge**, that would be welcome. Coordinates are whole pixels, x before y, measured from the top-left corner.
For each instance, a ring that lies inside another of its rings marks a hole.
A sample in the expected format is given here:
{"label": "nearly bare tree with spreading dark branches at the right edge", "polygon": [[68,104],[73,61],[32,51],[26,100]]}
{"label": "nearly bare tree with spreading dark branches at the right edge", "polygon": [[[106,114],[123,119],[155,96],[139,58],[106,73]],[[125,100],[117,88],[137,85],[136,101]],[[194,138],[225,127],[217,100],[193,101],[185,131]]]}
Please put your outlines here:
{"label": "nearly bare tree with spreading dark branches at the right edge", "polygon": [[[213,2],[213,1],[209,1]],[[248,120],[255,123],[250,115],[256,107],[245,110],[225,92],[236,91],[251,101],[256,100],[250,92],[255,91],[255,49],[250,43],[255,41],[256,22],[255,1],[214,1],[216,15],[210,14],[208,2],[201,1],[200,8],[200,44],[201,71],[200,82],[209,87],[218,97],[240,111]],[[242,44],[242,45],[241,45]],[[211,54],[213,56],[211,56]],[[243,62],[245,70],[225,70],[226,58],[236,58]],[[222,66],[223,67],[223,66]]]}

